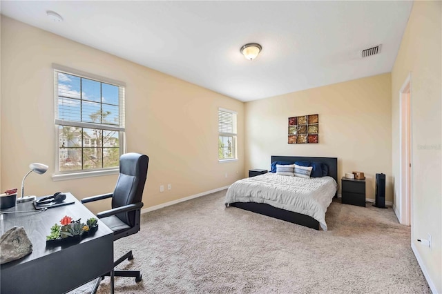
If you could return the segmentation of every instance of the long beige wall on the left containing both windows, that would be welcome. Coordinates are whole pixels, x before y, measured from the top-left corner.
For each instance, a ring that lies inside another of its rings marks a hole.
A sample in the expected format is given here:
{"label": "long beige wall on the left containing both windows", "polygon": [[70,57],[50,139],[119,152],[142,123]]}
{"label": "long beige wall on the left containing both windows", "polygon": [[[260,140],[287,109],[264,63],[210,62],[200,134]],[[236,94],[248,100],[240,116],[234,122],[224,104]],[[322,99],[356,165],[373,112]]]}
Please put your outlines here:
{"label": "long beige wall on the left containing both windows", "polygon": [[[151,159],[144,207],[227,186],[244,171],[244,104],[8,17],[1,18],[1,190],[21,185],[31,162],[50,166],[26,179],[26,193],[113,190],[117,175],[53,182],[52,63],[126,82],[128,152]],[[238,157],[218,163],[218,107],[238,112]],[[228,177],[224,177],[227,173]],[[160,185],[172,190],[160,193]],[[93,207],[97,211],[102,207]]]}

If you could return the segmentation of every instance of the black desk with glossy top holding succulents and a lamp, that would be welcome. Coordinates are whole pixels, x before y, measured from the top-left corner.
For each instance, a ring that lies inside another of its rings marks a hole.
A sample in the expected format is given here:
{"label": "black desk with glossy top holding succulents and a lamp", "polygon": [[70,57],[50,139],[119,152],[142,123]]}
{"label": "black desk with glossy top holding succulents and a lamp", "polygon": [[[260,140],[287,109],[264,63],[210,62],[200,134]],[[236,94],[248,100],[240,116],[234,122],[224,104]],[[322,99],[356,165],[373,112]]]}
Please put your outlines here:
{"label": "black desk with glossy top holding succulents and a lamp", "polygon": [[95,217],[72,194],[66,196],[66,201],[75,200],[75,204],[39,212],[32,202],[24,202],[1,210],[35,210],[3,215],[5,232],[12,226],[23,226],[33,250],[26,257],[1,265],[1,293],[66,293],[113,271],[113,232],[100,220],[98,231],[78,244],[46,247],[50,227],[65,215],[81,218],[84,223]]}

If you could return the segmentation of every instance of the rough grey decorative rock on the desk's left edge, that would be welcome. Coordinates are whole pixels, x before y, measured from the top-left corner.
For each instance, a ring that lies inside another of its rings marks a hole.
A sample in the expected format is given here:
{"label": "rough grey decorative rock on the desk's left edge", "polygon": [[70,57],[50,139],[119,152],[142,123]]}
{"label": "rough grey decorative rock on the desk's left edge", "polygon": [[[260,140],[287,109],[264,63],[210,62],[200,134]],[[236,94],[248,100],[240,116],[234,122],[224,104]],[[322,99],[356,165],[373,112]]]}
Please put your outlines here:
{"label": "rough grey decorative rock on the desk's left edge", "polygon": [[32,252],[32,242],[23,226],[13,227],[0,238],[0,264],[20,259]]}

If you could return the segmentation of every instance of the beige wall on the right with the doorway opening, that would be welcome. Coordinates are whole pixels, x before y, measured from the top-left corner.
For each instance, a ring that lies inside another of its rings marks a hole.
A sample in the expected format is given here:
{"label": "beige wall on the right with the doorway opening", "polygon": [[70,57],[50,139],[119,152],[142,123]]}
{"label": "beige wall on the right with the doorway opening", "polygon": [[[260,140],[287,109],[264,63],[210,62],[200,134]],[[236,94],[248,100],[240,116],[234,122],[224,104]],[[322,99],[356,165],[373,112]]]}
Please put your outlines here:
{"label": "beige wall on the right with the doorway opening", "polygon": [[[412,244],[442,293],[442,2],[415,1],[392,70],[393,176],[399,177],[399,90],[411,72]],[[395,204],[399,187],[395,181]],[[432,235],[432,249],[416,239]]]}

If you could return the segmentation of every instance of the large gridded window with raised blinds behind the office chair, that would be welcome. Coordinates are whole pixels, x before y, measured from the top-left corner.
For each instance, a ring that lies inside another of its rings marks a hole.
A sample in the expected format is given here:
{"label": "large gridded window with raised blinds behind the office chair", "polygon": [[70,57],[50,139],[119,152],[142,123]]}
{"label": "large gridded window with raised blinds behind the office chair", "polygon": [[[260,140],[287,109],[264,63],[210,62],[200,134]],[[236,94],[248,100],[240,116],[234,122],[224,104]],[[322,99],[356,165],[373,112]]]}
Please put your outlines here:
{"label": "large gridded window with raised blinds behind the office chair", "polygon": [[54,66],[58,172],[115,169],[124,153],[124,84]]}

